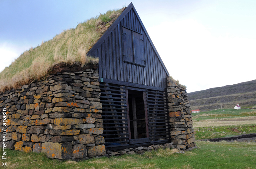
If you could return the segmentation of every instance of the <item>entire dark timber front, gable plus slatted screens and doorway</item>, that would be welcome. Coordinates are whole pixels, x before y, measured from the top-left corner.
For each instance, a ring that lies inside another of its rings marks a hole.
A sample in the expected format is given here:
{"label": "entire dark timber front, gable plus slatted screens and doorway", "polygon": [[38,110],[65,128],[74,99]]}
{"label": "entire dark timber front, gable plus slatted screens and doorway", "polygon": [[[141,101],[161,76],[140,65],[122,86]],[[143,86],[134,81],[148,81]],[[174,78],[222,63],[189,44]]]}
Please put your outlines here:
{"label": "entire dark timber front, gable plus slatted screens and doorway", "polygon": [[132,3],[88,55],[99,58],[106,149],[170,142],[169,73]]}

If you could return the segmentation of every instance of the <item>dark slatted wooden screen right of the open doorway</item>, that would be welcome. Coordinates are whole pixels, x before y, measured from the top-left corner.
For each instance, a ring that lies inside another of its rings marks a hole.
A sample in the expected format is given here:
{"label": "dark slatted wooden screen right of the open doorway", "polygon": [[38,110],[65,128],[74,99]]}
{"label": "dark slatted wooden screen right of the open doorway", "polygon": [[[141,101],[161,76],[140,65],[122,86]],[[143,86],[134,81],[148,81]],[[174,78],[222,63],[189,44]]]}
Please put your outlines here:
{"label": "dark slatted wooden screen right of the open doorway", "polygon": [[169,140],[167,114],[167,94],[162,91],[147,90],[148,131],[151,143]]}

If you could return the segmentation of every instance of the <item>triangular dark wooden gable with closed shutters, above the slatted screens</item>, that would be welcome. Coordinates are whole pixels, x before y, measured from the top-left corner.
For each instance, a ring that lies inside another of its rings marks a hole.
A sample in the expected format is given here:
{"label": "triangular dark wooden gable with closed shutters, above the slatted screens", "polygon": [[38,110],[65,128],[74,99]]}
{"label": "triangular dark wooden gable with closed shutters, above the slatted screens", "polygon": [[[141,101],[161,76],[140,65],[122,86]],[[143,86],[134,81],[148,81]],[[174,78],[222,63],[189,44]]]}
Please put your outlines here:
{"label": "triangular dark wooden gable with closed shutters, above the slatted screens", "polygon": [[132,3],[87,54],[99,58],[100,81],[166,88],[169,73]]}

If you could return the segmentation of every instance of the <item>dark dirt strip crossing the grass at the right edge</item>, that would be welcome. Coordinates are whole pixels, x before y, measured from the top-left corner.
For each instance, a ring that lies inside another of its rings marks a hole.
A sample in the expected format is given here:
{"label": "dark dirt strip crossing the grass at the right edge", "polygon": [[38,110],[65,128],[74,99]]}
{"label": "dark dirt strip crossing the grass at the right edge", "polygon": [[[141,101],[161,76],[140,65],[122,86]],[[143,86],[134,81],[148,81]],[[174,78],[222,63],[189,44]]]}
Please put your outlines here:
{"label": "dark dirt strip crossing the grass at the right edge", "polygon": [[233,142],[235,140],[238,142],[256,142],[256,133],[242,134],[242,135],[233,136],[233,137],[211,138],[211,139],[204,139],[200,141],[219,142],[222,140],[225,140],[227,142]]}

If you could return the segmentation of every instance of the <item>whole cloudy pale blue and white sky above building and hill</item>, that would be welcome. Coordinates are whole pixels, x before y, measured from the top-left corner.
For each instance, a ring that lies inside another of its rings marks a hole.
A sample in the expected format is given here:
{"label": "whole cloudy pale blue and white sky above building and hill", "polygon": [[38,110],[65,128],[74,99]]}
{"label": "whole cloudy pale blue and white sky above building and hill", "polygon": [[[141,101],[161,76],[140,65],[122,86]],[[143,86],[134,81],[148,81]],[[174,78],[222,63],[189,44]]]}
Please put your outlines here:
{"label": "whole cloudy pale blue and white sky above building and hill", "polygon": [[[0,71],[31,46],[130,3],[0,0]],[[170,75],[188,92],[256,79],[255,0],[132,3]]]}

